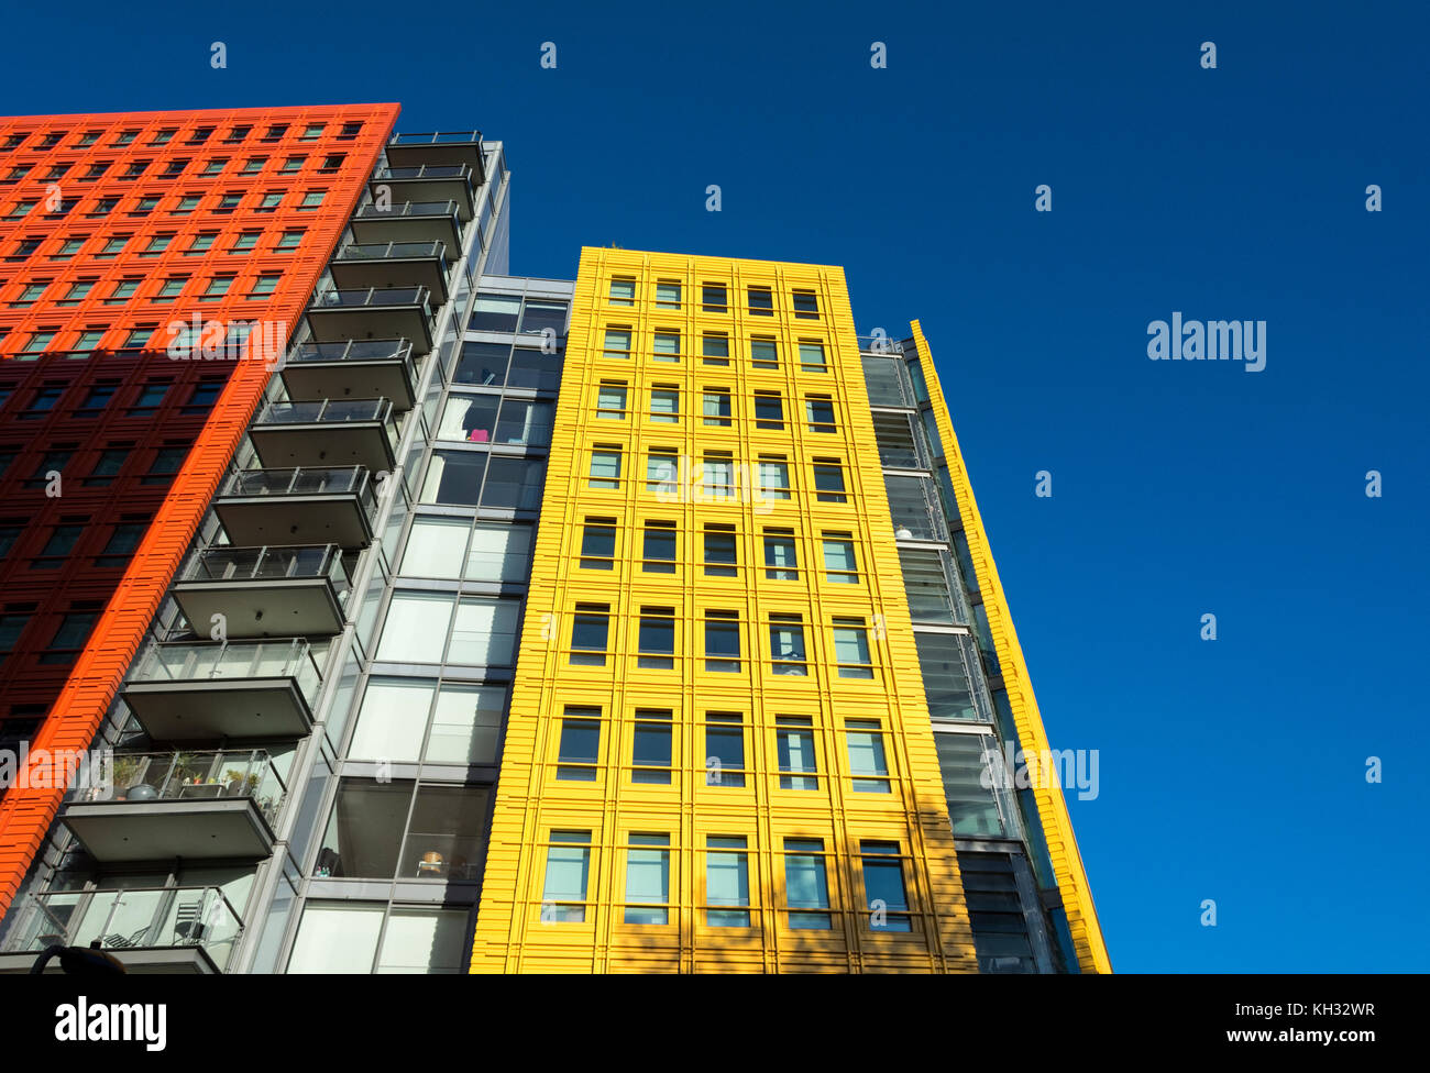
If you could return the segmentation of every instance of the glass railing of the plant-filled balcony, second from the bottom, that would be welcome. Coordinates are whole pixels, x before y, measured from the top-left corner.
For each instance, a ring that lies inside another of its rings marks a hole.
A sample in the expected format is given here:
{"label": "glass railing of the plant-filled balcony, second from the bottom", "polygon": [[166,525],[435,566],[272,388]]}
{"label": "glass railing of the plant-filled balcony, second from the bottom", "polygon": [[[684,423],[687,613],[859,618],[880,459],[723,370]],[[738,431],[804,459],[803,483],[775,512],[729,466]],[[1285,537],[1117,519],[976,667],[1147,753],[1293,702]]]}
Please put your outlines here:
{"label": "glass railing of the plant-filled balcony, second from the bottom", "polygon": [[249,797],[267,824],[276,827],[287,796],[287,787],[265,749],[116,753],[112,770],[112,793],[102,797],[103,787],[76,786],[64,800],[76,804],[96,800],[153,804]]}

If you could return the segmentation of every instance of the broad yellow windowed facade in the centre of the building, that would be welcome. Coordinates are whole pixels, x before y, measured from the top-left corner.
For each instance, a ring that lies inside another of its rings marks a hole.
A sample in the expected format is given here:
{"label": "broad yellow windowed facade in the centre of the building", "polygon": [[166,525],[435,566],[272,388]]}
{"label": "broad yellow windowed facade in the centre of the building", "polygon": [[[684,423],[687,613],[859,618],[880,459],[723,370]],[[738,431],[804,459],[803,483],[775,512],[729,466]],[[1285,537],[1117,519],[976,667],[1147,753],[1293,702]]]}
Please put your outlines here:
{"label": "broad yellow windowed facade in the centre of the building", "polygon": [[533,562],[473,972],[977,970],[841,269],[582,250]]}

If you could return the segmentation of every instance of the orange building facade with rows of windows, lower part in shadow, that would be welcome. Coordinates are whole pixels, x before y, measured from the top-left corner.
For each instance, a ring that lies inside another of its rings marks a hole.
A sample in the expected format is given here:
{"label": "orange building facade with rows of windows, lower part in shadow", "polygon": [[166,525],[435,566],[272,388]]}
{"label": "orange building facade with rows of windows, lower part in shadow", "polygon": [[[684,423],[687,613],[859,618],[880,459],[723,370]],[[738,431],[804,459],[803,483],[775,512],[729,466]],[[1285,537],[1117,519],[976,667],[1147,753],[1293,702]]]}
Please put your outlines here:
{"label": "orange building facade with rows of windows, lower part in shadow", "polygon": [[[90,747],[396,116],[0,119],[0,746]],[[4,913],[64,790],[0,793]]]}

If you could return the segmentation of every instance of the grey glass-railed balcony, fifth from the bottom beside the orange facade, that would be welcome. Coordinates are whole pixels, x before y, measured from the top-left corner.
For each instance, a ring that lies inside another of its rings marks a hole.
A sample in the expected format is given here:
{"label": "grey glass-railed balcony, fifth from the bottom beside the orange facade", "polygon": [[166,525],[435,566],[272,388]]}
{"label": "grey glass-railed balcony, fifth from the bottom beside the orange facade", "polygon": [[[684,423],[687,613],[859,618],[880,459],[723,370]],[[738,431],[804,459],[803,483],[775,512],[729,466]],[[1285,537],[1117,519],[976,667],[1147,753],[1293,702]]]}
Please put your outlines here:
{"label": "grey glass-railed balcony, fifth from the bottom beside the orange facade", "polygon": [[372,471],[335,469],[239,470],[219,487],[213,510],[239,546],[339,544],[366,547],[378,511]]}

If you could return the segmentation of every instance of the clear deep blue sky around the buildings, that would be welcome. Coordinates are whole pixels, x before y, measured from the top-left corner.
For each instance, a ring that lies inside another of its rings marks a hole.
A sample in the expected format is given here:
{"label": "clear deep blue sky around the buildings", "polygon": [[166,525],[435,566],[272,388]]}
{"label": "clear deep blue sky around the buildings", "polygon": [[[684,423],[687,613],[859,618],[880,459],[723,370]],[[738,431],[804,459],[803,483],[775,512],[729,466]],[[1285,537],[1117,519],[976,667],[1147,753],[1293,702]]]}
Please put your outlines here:
{"label": "clear deep blue sky around the buildings", "polygon": [[[506,141],[513,273],[847,266],[861,331],[922,320],[1052,743],[1100,750],[1114,967],[1427,970],[1430,16],[1002,7],[29,4],[0,109],[396,100]],[[1266,369],[1150,361],[1174,310]]]}

